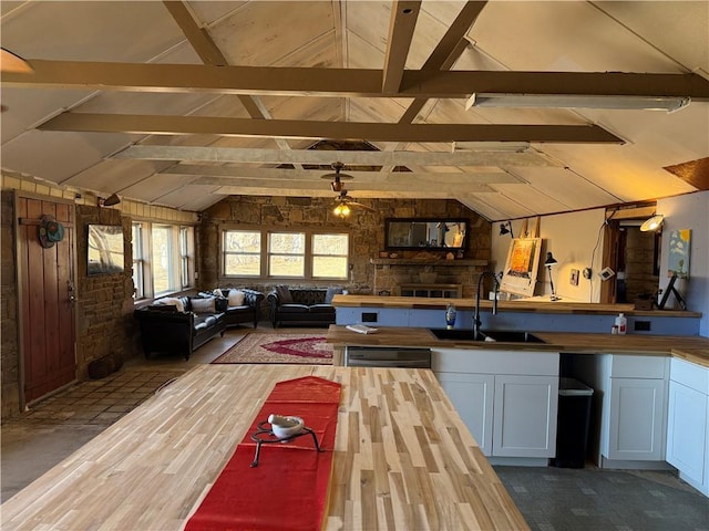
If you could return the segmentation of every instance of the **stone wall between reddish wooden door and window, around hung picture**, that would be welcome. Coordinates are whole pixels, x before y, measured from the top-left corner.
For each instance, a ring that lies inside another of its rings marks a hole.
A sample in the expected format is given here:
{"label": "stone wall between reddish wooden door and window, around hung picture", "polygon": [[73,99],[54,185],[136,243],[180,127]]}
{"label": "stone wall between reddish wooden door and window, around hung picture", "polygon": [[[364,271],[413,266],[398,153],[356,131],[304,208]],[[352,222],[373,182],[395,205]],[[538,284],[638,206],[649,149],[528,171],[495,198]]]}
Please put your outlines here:
{"label": "stone wall between reddish wooden door and window, around hung picture", "polygon": [[[123,226],[124,270],[120,274],[86,274],[88,226]],[[120,363],[136,348],[133,319],[133,278],[131,267],[131,218],[112,208],[76,207],[76,365],[79,379],[86,379],[92,360],[112,355]]]}

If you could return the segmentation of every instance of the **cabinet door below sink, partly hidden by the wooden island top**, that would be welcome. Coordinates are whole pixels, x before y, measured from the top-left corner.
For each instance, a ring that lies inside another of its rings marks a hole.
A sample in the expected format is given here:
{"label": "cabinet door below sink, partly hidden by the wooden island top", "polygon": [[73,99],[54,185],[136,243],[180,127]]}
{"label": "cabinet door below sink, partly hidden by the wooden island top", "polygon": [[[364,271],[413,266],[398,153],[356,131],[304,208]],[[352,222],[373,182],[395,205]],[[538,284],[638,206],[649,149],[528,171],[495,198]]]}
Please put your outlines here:
{"label": "cabinet door below sink, partly hidden by the wooden island top", "polygon": [[436,373],[441,387],[458,409],[485,456],[492,451],[492,400],[495,377],[490,374]]}

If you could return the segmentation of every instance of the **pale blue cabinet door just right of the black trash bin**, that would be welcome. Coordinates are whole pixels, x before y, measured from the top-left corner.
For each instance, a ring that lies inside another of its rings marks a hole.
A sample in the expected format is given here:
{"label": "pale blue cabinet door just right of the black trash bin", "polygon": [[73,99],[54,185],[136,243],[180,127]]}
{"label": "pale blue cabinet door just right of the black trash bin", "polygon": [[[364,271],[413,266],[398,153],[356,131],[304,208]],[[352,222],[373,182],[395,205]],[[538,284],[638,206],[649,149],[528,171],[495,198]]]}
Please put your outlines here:
{"label": "pale blue cabinet door just right of the black trash bin", "polygon": [[608,459],[665,458],[664,379],[610,378]]}

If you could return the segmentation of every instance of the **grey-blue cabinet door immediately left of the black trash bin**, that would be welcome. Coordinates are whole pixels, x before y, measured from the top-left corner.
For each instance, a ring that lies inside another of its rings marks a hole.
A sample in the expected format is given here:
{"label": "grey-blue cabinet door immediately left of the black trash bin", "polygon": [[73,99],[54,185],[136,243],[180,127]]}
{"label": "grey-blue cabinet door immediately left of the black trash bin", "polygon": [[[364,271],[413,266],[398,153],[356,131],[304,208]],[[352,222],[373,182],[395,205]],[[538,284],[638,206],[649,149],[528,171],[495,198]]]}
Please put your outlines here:
{"label": "grey-blue cabinet door immediately left of the black trash bin", "polygon": [[493,456],[554,457],[558,377],[495,376]]}

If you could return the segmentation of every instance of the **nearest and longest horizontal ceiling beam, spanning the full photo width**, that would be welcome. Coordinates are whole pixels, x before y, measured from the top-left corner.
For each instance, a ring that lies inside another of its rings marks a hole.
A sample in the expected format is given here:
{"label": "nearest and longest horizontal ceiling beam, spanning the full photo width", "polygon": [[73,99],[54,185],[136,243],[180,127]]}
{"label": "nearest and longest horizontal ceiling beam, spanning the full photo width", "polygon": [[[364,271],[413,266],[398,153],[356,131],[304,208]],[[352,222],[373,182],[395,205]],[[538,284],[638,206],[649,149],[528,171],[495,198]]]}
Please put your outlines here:
{"label": "nearest and longest horizontal ceiling beam, spanning the full photo width", "polygon": [[403,72],[397,93],[381,91],[381,70],[28,60],[33,73],[3,73],[4,86],[131,92],[213,92],[300,96],[466,98],[472,93],[689,96],[709,101],[698,74],[621,72]]}

